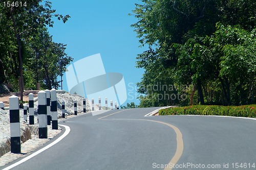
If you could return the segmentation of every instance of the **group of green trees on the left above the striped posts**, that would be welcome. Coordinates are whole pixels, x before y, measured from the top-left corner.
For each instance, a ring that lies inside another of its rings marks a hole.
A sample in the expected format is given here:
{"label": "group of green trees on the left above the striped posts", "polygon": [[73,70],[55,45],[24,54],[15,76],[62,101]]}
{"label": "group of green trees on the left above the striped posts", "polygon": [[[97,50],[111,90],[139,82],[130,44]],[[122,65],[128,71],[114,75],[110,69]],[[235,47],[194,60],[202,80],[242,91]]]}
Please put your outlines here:
{"label": "group of green trees on the left above the striped posts", "polygon": [[56,14],[50,1],[0,2],[0,84],[20,92],[35,89],[36,83],[57,89],[57,77],[73,59],[65,53],[66,44],[53,42],[47,28],[53,27],[53,17],[65,23],[70,16]]}

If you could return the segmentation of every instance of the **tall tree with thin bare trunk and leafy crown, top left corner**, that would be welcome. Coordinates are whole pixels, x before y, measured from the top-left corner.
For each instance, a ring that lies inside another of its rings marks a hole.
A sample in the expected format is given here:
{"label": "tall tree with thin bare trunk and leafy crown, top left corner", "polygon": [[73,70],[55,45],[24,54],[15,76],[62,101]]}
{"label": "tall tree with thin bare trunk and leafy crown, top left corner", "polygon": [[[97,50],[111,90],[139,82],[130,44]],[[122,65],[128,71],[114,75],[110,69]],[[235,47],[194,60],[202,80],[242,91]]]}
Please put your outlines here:
{"label": "tall tree with thin bare trunk and leafy crown, top left corner", "polygon": [[[18,77],[19,77],[19,88],[20,88],[20,100],[23,101],[23,61],[24,61],[24,44],[28,38],[33,37],[38,29],[49,26],[53,27],[52,17],[58,17],[66,22],[70,17],[69,15],[62,16],[55,14],[55,10],[51,9],[51,2],[45,1],[44,5],[41,4],[41,0],[36,1],[20,1],[23,4],[22,7],[15,7],[1,3],[1,15],[7,18],[7,28],[11,28],[16,39],[18,55]],[[13,34],[11,34],[13,35]]]}

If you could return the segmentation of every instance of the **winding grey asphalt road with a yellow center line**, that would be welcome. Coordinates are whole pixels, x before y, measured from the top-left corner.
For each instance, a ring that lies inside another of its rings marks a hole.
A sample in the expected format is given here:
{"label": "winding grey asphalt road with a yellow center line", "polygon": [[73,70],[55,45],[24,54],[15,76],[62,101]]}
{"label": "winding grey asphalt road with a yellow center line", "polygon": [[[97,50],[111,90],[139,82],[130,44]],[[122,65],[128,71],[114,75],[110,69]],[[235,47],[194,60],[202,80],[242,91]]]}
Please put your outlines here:
{"label": "winding grey asphalt road with a yellow center line", "polygon": [[62,120],[59,124],[69,126],[70,133],[13,169],[256,169],[255,120],[144,117],[156,109],[110,110]]}

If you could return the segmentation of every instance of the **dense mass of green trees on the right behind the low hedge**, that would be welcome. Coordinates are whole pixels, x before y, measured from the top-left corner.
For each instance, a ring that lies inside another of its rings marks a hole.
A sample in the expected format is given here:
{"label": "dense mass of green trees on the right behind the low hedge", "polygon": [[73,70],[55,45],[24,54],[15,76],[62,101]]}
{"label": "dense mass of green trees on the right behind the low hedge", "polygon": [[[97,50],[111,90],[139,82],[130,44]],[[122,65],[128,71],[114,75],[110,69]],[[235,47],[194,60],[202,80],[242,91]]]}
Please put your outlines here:
{"label": "dense mass of green trees on the right behind the low hedge", "polygon": [[136,4],[140,107],[255,104],[255,14],[253,0]]}

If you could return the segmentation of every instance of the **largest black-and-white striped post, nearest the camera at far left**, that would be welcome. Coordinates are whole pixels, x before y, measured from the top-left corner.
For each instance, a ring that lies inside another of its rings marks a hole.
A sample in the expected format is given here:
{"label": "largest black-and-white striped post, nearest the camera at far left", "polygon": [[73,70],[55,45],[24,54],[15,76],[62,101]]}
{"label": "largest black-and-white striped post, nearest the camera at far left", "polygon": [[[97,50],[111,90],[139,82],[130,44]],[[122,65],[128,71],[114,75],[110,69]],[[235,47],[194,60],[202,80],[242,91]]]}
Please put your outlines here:
{"label": "largest black-and-white striped post, nearest the camera at far left", "polygon": [[11,153],[20,153],[19,101],[15,95],[9,98]]}

